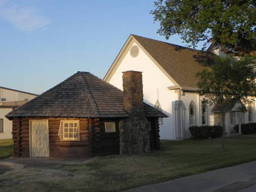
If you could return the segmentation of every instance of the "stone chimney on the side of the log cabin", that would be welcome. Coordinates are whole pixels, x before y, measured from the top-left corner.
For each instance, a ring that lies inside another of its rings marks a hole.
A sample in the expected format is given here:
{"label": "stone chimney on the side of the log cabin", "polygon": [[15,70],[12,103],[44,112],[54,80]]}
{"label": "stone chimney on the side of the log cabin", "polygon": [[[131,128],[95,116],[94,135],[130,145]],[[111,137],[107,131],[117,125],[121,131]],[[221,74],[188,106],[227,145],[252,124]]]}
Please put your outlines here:
{"label": "stone chimney on the side of the log cabin", "polygon": [[144,113],[142,72],[123,72],[122,80],[124,109],[130,117],[119,123],[120,154],[148,153],[150,123]]}

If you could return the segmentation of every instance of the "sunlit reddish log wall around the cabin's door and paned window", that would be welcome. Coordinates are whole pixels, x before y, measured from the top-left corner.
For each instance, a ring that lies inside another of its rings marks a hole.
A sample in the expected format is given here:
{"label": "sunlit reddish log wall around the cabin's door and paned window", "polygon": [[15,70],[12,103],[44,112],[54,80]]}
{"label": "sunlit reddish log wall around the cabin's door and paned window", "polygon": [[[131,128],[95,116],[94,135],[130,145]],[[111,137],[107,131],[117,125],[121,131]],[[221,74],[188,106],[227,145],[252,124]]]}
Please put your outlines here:
{"label": "sunlit reddish log wall around the cabin's door and paned window", "polygon": [[[14,156],[29,157],[29,120],[48,120],[50,157],[90,157],[91,133],[88,118],[14,118],[12,135]],[[79,120],[80,141],[63,141],[59,138],[61,120]]]}

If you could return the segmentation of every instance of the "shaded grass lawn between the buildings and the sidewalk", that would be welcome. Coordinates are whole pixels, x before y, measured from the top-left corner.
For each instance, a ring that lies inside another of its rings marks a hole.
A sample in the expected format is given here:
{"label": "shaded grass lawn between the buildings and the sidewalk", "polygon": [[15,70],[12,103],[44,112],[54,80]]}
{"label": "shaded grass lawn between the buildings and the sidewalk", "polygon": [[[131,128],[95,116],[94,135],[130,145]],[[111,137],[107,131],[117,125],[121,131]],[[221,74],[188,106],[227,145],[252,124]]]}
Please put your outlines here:
{"label": "shaded grass lawn between the buildings and the sidewalk", "polygon": [[220,139],[162,141],[162,150],[148,155],[96,157],[79,165],[57,167],[73,177],[25,169],[0,175],[0,183],[3,180],[3,191],[121,191],[254,160],[256,138],[226,138],[224,152]]}

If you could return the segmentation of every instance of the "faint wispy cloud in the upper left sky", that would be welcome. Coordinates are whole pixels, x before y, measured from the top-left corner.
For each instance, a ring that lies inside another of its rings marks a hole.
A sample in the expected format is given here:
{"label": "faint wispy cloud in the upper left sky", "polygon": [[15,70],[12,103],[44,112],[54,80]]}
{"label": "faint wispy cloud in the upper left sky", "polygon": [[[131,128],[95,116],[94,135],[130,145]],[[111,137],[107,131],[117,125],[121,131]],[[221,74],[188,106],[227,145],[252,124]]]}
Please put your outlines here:
{"label": "faint wispy cloud in the upper left sky", "polygon": [[21,31],[33,31],[51,21],[41,16],[35,7],[21,6],[16,1],[0,0],[0,16]]}

